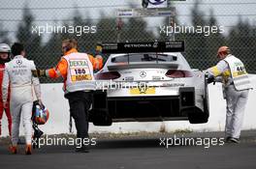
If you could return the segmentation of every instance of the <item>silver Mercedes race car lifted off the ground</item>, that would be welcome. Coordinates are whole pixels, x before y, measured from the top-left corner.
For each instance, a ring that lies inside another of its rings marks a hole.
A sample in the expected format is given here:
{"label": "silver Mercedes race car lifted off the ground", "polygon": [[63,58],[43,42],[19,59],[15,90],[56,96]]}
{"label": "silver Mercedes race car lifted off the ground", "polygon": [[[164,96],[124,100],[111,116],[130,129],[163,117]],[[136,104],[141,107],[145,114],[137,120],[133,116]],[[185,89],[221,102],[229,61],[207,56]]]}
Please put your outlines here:
{"label": "silver Mercedes race car lifted off the ground", "polygon": [[112,54],[95,74],[98,88],[89,114],[95,126],[208,122],[207,79],[181,54],[184,42],[107,43],[103,48]]}

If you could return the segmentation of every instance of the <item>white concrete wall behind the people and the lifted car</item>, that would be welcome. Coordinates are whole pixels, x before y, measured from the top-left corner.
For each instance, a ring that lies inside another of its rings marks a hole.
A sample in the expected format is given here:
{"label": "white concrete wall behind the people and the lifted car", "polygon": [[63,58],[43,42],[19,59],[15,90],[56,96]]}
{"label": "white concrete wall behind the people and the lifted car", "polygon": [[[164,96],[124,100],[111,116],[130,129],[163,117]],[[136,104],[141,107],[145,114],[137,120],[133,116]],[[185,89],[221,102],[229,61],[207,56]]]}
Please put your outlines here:
{"label": "white concrete wall behind the people and the lifted car", "polygon": [[[256,75],[251,75],[251,82],[256,89]],[[176,129],[190,129],[194,131],[219,131],[225,127],[225,100],[222,97],[221,84],[209,85],[209,110],[210,116],[208,124],[191,125],[188,121],[171,121],[163,123],[115,123],[112,127],[94,127],[90,124],[89,132],[138,132],[138,131],[159,131],[164,126],[167,131]],[[62,84],[43,84],[43,101],[50,111],[50,118],[45,126],[40,127],[47,134],[68,133],[69,132],[69,105],[64,99]],[[242,129],[256,128],[256,91],[252,90],[246,104]],[[3,135],[7,135],[7,119],[2,120]],[[75,126],[73,132],[76,133]],[[20,127],[20,134],[23,128]]]}

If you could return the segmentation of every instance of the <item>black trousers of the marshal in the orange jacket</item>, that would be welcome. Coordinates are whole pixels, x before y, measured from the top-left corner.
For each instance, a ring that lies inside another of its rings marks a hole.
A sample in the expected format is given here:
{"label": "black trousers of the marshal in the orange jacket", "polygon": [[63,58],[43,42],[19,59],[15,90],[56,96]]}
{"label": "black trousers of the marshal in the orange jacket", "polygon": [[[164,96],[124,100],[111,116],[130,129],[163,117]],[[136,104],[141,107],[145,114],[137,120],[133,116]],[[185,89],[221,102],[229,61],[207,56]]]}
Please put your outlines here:
{"label": "black trousers of the marshal in the orange jacket", "polygon": [[88,110],[92,102],[90,92],[73,92],[65,95],[69,100],[70,113],[75,120],[78,138],[88,138]]}

